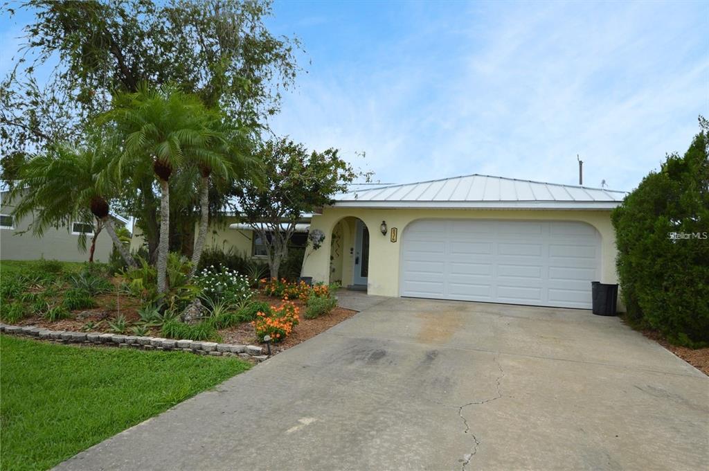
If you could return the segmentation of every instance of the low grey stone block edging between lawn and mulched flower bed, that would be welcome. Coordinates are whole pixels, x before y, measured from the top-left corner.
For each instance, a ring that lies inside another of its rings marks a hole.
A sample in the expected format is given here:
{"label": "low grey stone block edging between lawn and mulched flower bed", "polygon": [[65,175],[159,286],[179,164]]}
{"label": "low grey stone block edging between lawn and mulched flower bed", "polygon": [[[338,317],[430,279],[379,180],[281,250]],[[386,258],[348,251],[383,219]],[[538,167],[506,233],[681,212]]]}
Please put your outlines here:
{"label": "low grey stone block edging between lawn and mulched flower bed", "polygon": [[54,340],[60,343],[99,343],[120,348],[141,348],[143,350],[182,350],[197,355],[239,356],[252,358],[257,362],[267,360],[263,347],[257,345],[235,345],[232,343],[201,342],[198,340],[174,340],[162,337],[125,336],[116,333],[50,331],[37,326],[9,326],[0,323],[0,332],[16,335],[37,337],[43,340]]}

